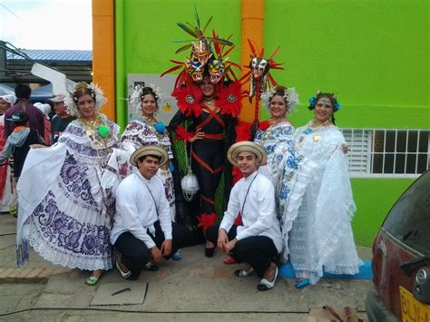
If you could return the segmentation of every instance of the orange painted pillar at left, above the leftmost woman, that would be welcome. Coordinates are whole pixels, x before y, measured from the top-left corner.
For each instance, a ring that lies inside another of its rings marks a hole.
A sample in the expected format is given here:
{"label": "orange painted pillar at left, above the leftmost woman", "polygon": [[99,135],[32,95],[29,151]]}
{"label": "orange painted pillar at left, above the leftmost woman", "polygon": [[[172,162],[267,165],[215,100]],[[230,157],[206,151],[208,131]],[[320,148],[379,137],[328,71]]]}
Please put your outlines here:
{"label": "orange painted pillar at left, above the leftmost woman", "polygon": [[93,83],[108,102],[102,112],[115,120],[114,0],[93,0]]}

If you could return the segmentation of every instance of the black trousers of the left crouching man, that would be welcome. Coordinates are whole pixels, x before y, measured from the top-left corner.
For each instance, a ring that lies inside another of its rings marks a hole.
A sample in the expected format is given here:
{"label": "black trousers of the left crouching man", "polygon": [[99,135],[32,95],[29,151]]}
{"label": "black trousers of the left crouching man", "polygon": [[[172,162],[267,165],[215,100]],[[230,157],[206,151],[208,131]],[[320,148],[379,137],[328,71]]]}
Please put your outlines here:
{"label": "black trousers of the left crouching man", "polygon": [[[155,234],[152,235],[148,231],[148,235],[150,235],[151,239],[160,249],[164,241],[164,233],[161,230],[160,221],[154,223],[154,228]],[[191,232],[185,226],[172,222],[171,235],[171,254],[176,253],[178,249],[187,247],[190,243]],[[122,233],[116,239],[114,246],[121,253],[122,263],[132,272],[132,278],[139,278],[142,269],[151,260],[151,249],[141,239],[135,238],[130,231]],[[170,259],[170,257],[165,259]]]}

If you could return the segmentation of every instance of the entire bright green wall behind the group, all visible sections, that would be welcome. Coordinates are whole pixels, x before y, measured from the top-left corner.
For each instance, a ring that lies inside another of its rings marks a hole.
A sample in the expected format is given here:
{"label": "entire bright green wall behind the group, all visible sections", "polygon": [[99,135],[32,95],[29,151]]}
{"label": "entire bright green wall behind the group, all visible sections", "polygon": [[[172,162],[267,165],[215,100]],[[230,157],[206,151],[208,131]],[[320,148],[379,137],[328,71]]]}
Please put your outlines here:
{"label": "entire bright green wall behind the group, all visible sections", "polygon": [[[246,0],[243,0],[246,1]],[[239,62],[239,0],[116,0],[117,97],[126,96],[127,73],[162,73],[180,46],[191,39],[177,22],[194,24],[193,4],[202,24],[233,34]],[[301,126],[312,117],[308,97],[318,89],[338,93],[343,109],[340,127],[428,128],[430,56],[428,0],[265,0],[266,53],[281,45],[273,71],[280,84],[300,95],[290,119]],[[125,104],[117,100],[117,121]],[[264,117],[264,115],[263,115]],[[123,124],[122,124],[123,125]],[[369,246],[386,212],[412,182],[410,179],[353,179],[357,243]]]}

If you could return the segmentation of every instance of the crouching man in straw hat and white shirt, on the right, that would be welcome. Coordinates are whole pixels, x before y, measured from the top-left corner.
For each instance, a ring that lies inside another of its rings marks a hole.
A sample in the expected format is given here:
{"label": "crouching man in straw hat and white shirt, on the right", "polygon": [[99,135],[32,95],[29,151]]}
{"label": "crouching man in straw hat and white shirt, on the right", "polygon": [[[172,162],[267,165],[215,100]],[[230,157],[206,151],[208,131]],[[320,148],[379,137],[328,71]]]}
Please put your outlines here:
{"label": "crouching man in straw hat and white shirt, on the right", "polygon": [[[239,141],[227,152],[229,161],[243,174],[230,192],[227,211],[220,226],[211,226],[207,238],[229,253],[244,268],[235,271],[239,277],[253,271],[261,280],[257,288],[269,290],[278,277],[278,258],[282,248],[279,220],[275,215],[275,189],[257,168],[267,160],[266,151],[251,141]],[[243,226],[233,225],[238,214]]]}

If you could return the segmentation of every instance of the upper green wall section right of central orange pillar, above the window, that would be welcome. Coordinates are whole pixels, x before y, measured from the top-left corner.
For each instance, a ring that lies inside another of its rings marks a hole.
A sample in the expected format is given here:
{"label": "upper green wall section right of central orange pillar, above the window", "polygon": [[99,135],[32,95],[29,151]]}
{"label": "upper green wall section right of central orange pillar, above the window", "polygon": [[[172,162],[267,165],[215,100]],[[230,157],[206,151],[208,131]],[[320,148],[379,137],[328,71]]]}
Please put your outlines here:
{"label": "upper green wall section right of central orange pillar, above the window", "polygon": [[[428,0],[266,0],[264,10],[265,46],[281,44],[286,65],[277,79],[302,103],[333,91],[340,126],[428,127]],[[298,124],[310,117],[301,107]]]}

